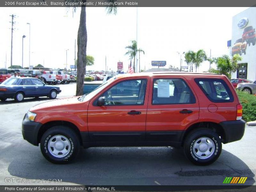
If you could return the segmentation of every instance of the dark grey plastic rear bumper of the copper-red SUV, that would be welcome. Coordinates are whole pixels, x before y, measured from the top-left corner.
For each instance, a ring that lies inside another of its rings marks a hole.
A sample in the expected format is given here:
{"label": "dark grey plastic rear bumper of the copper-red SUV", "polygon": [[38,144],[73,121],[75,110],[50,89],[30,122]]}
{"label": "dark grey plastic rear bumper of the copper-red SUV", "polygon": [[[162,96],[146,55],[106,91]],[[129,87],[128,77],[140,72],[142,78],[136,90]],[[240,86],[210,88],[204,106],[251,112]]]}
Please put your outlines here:
{"label": "dark grey plastic rear bumper of the copper-red SUV", "polygon": [[220,125],[224,129],[224,140],[223,143],[230,143],[233,141],[238,141],[244,136],[245,130],[245,121],[236,120],[236,121],[223,121]]}

